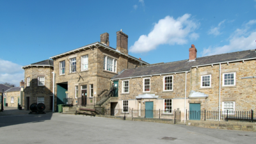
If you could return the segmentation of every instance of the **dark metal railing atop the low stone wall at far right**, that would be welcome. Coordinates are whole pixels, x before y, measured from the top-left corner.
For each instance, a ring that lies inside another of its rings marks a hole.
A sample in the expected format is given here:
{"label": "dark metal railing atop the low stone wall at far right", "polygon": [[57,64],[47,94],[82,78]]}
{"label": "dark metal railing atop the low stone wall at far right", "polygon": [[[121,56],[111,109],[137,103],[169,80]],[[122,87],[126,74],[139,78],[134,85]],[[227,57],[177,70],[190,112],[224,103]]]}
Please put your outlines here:
{"label": "dark metal railing atop the low stone wall at far right", "polygon": [[241,120],[256,121],[253,119],[253,110],[251,111],[187,111],[186,120]]}

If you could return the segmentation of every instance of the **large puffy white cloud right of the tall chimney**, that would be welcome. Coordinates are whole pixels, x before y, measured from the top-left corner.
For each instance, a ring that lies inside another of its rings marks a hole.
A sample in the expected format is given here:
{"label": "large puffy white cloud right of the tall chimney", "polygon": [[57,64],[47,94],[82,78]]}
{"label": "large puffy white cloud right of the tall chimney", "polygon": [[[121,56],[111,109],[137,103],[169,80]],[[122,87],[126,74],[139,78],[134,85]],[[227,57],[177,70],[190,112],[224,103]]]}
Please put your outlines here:
{"label": "large puffy white cloud right of the tall chimney", "polygon": [[182,45],[191,40],[196,40],[199,35],[195,33],[195,29],[199,24],[193,20],[189,20],[190,14],[173,19],[166,16],[154,25],[154,29],[148,35],[141,35],[140,38],[129,49],[130,52],[148,52],[156,49],[158,45]]}

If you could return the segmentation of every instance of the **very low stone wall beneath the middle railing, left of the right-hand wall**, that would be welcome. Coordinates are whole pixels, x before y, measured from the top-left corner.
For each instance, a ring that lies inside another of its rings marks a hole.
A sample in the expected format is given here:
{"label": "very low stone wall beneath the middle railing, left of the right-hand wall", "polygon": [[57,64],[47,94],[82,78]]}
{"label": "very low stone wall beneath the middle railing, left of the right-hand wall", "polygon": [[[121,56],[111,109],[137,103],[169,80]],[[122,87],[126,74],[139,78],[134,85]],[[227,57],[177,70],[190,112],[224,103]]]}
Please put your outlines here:
{"label": "very low stone wall beneath the middle railing, left of the right-hand wall", "polygon": [[[96,115],[96,116],[124,120],[124,116],[109,116],[109,115]],[[141,121],[141,122],[157,122],[157,123],[163,123],[163,124],[174,124],[172,119],[166,119],[166,118],[140,118],[140,117],[127,118],[126,117],[125,120]]]}

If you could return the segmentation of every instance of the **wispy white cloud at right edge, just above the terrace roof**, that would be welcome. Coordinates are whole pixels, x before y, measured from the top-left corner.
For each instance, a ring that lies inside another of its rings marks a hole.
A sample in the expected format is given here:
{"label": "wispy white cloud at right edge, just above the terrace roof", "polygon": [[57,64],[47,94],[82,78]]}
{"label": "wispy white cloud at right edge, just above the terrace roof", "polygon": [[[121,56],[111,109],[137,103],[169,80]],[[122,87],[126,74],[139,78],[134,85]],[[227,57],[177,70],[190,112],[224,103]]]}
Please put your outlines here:
{"label": "wispy white cloud at right edge, just above the terrace roof", "polygon": [[222,54],[232,51],[244,51],[256,48],[256,29],[250,30],[250,26],[256,24],[256,20],[250,20],[243,29],[236,29],[229,38],[229,44],[221,47],[208,47],[202,52],[203,56]]}

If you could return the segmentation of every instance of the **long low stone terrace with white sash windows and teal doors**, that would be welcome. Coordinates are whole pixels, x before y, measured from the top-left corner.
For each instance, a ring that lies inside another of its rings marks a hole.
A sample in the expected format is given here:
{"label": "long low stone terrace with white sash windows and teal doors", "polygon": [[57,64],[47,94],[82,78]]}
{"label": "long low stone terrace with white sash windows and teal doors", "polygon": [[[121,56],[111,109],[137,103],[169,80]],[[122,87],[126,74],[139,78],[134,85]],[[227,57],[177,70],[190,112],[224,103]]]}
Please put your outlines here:
{"label": "long low stone terrace with white sash windows and teal doors", "polygon": [[[118,83],[117,109],[248,111],[256,106],[256,51],[239,51],[129,68],[112,77]],[[220,109],[219,109],[220,107]],[[129,111],[126,111],[129,113]]]}

